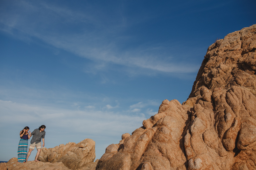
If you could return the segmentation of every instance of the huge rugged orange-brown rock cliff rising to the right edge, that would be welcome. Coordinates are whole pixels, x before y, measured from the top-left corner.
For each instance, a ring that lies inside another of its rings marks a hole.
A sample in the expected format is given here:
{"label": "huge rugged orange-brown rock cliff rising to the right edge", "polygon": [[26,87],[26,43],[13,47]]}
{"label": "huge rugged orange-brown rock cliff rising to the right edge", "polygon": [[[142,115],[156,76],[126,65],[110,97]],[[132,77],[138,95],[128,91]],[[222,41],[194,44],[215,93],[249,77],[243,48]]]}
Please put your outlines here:
{"label": "huge rugged orange-brown rock cliff rising to the right edge", "polygon": [[212,44],[181,105],[124,134],[97,170],[256,169],[256,25]]}

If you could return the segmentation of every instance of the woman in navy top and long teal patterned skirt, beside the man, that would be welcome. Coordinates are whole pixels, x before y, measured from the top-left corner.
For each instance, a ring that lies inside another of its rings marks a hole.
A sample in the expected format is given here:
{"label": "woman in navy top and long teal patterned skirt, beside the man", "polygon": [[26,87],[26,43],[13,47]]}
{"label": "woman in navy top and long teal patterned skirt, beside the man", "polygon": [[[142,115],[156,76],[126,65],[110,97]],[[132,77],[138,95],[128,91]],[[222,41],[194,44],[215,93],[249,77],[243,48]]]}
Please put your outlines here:
{"label": "woman in navy top and long teal patterned skirt, beside the man", "polygon": [[26,126],[23,130],[20,131],[20,142],[18,147],[18,162],[26,163],[27,152],[28,152],[28,139],[31,137],[31,132],[29,127]]}

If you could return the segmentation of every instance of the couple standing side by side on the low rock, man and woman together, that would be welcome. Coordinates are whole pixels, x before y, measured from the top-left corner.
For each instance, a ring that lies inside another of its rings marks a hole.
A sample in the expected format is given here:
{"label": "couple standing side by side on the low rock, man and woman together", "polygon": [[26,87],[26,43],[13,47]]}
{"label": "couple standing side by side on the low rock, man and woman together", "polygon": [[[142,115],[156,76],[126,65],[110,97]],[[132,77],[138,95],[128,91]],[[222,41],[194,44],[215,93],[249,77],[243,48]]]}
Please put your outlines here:
{"label": "couple standing side by side on the low rock, man and woman together", "polygon": [[[41,146],[41,139],[43,140],[43,147],[44,147],[44,136],[45,136],[45,129],[46,127],[44,125],[40,126],[38,129],[35,129],[32,133],[28,130],[29,127],[26,126],[23,130],[20,131],[20,142],[18,147],[18,162],[24,162],[28,161],[28,157],[30,153],[35,149],[37,149],[36,158],[35,161],[38,161],[37,158],[41,152],[42,146]],[[32,140],[30,141],[30,146],[28,148],[28,139],[32,137]],[[29,151],[28,151],[29,149]],[[27,156],[28,152],[28,156]]]}

